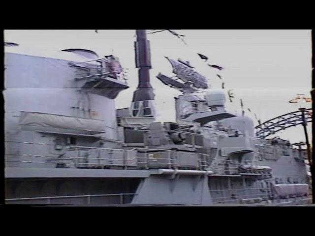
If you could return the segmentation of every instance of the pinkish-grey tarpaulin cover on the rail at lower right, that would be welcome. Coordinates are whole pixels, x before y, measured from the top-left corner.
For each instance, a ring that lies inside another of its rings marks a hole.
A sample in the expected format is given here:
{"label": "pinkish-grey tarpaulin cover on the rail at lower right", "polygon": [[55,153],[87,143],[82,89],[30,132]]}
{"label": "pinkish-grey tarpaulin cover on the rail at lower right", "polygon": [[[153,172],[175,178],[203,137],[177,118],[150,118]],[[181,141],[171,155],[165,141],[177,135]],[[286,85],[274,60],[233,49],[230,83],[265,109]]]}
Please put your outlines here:
{"label": "pinkish-grey tarpaulin cover on the rail at lower right", "polygon": [[303,196],[308,194],[309,185],[306,183],[274,184],[275,197]]}

